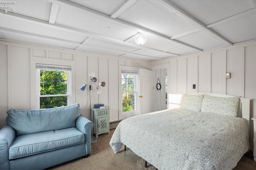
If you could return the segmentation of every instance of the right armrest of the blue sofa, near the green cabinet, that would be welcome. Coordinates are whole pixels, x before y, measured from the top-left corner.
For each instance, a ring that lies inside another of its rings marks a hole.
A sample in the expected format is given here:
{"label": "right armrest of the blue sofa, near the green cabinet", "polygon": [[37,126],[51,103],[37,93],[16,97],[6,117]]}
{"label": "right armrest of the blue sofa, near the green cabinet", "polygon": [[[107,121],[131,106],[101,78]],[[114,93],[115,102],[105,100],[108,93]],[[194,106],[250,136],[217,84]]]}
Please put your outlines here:
{"label": "right armrest of the blue sofa, near the green cabinet", "polygon": [[84,156],[91,153],[91,130],[93,128],[92,121],[80,115],[76,120],[76,128],[84,133]]}

